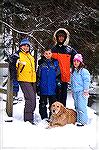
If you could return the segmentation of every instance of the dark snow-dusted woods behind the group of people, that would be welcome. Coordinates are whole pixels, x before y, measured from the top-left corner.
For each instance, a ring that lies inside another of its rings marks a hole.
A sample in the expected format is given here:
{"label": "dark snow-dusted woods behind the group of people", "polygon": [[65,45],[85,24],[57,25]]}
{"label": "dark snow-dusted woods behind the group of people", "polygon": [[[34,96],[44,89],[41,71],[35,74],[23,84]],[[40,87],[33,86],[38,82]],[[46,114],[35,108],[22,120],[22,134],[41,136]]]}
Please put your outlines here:
{"label": "dark snow-dusted woods behind the group of people", "polygon": [[3,0],[0,2],[3,50],[15,52],[29,37],[35,56],[52,44],[55,30],[70,32],[70,45],[84,56],[93,76],[99,74],[99,2],[96,0]]}

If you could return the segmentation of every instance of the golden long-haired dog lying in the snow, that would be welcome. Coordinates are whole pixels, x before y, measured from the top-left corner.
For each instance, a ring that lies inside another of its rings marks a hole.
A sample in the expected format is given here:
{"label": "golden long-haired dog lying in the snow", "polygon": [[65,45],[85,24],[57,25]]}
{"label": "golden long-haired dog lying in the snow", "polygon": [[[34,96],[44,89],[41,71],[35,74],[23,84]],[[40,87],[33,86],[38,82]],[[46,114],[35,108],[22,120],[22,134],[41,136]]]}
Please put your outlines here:
{"label": "golden long-haired dog lying in the snow", "polygon": [[50,108],[51,116],[49,119],[49,128],[64,126],[66,124],[75,124],[77,120],[77,113],[73,109],[65,108],[64,105],[58,101],[54,102]]}

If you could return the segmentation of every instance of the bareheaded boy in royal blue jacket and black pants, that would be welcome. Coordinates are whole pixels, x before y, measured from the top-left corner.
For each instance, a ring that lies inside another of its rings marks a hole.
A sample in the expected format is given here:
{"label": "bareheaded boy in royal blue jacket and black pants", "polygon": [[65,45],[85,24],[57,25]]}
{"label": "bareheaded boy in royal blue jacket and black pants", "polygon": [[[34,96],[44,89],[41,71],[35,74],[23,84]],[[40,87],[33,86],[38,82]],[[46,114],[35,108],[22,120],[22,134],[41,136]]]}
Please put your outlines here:
{"label": "bareheaded boy in royal blue jacket and black pants", "polygon": [[[37,70],[37,79],[40,89],[39,113],[41,118],[48,118],[47,99],[49,99],[49,108],[56,101],[56,78],[60,74],[58,61],[51,58],[51,49],[45,50]],[[50,115],[50,114],[49,114]]]}

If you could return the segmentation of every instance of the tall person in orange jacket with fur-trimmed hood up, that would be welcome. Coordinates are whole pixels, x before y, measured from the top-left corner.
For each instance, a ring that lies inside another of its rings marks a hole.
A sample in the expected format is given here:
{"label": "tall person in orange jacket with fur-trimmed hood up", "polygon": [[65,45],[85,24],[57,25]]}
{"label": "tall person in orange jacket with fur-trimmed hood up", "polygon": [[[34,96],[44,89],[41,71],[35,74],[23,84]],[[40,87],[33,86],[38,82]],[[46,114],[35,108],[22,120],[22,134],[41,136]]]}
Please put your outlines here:
{"label": "tall person in orange jacket with fur-trimmed hood up", "polygon": [[70,81],[70,65],[77,51],[68,46],[69,32],[64,28],[59,28],[54,33],[54,42],[52,58],[58,60],[61,72],[61,92],[57,100],[66,106],[67,88]]}

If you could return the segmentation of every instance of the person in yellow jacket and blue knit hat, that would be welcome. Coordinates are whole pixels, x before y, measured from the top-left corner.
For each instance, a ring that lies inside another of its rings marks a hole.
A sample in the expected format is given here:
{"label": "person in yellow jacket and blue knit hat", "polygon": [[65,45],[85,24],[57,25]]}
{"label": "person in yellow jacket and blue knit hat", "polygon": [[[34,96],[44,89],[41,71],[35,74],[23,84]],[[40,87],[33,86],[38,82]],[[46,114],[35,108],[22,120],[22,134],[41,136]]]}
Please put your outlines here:
{"label": "person in yellow jacket and blue knit hat", "polygon": [[[10,72],[11,77],[18,81],[24,94],[24,121],[29,121],[31,124],[34,124],[34,111],[36,108],[36,71],[35,60],[30,53],[30,45],[27,38],[21,40],[19,50],[11,57],[12,63],[10,63]],[[17,55],[18,57],[15,57]]]}

